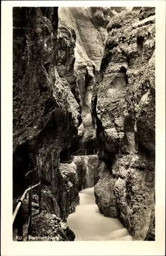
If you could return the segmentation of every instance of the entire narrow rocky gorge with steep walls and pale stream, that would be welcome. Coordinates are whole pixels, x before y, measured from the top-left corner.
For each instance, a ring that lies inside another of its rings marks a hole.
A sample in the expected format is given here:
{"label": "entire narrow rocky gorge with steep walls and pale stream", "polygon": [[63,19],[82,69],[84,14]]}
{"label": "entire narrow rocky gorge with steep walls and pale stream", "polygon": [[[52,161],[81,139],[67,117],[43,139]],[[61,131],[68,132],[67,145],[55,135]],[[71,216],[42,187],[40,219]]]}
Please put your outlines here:
{"label": "entire narrow rocky gorge with steep walls and pale stream", "polygon": [[21,241],[155,241],[155,8],[13,8],[14,241],[38,182]]}

